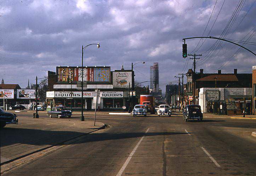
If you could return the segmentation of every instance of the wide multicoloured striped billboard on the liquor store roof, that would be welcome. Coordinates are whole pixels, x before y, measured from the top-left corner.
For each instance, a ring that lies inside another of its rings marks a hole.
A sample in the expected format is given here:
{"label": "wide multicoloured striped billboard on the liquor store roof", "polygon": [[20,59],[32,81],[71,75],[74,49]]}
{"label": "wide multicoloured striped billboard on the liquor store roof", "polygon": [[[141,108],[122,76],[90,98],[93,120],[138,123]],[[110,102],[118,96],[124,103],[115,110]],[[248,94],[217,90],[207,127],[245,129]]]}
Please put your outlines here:
{"label": "wide multicoloured striped billboard on the liquor store roof", "polygon": [[[57,67],[57,81],[82,81],[81,67]],[[83,68],[83,81],[110,82],[110,67],[86,67]]]}

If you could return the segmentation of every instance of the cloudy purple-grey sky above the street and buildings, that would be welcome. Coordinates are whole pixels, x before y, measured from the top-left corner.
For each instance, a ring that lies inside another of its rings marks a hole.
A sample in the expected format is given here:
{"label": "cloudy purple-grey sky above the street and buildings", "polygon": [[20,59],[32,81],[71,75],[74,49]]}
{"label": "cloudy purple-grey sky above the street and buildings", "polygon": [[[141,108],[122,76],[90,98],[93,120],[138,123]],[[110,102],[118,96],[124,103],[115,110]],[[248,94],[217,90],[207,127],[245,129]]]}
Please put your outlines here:
{"label": "cloudy purple-grey sky above the street and buildings", "polygon": [[[255,0],[1,0],[0,78],[27,86],[57,65],[111,66],[131,69],[137,82],[149,81],[149,67],[159,62],[160,88],[192,68],[182,58],[182,38],[217,36],[256,52]],[[188,53],[203,54],[197,71],[251,73],[255,56],[215,39],[186,40]],[[147,85],[147,84],[144,84]]]}

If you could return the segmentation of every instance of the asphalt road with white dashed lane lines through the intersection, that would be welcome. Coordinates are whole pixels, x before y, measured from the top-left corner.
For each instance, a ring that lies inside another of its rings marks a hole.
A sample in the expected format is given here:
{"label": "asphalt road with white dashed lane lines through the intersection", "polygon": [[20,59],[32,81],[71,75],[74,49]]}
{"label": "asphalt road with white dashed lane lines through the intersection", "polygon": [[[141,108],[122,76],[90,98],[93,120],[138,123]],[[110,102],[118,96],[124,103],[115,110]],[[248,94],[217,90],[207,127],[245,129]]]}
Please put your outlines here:
{"label": "asphalt road with white dashed lane lines through the intersection", "polygon": [[101,115],[97,121],[111,128],[4,175],[256,175],[253,120]]}

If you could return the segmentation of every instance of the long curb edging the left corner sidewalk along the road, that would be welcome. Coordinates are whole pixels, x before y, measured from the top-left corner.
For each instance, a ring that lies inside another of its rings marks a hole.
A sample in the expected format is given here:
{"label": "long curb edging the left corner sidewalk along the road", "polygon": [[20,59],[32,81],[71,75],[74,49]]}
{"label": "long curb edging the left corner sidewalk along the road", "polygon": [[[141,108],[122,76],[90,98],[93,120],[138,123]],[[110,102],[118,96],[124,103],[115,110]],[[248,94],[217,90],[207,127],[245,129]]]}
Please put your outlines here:
{"label": "long curb edging the left corner sidewalk along the road", "polygon": [[[98,122],[98,123],[101,123],[101,122]],[[88,134],[93,133],[93,132],[95,132],[95,131],[98,131],[98,130],[101,130],[101,129],[105,129],[106,127],[108,127],[107,124],[104,124],[104,123],[102,123],[102,124],[103,124],[102,127],[99,127],[98,129],[93,130],[93,131],[91,131],[91,132],[89,132],[89,133],[81,134],[81,135],[79,135],[79,136],[73,137],[73,138],[68,139],[68,140],[66,140],[66,141],[62,141],[62,142],[56,143],[56,144],[51,145],[51,146],[48,146],[48,147],[40,148],[40,149],[38,149],[38,150],[36,150],[36,151],[33,151],[33,152],[30,152],[30,153],[24,154],[24,155],[19,156],[19,157],[17,157],[17,158],[10,159],[10,160],[8,160],[8,161],[6,161],[6,162],[0,163],[0,166],[2,166],[2,165],[4,165],[4,164],[11,163],[11,162],[13,162],[13,161],[15,161],[15,160],[17,160],[17,159],[21,159],[21,158],[27,157],[27,156],[29,156],[29,155],[31,155],[31,154],[34,154],[34,153],[37,153],[37,152],[41,152],[41,151],[43,151],[43,150],[45,150],[45,149],[48,149],[48,148],[51,148],[51,147],[55,147],[55,146],[64,144],[65,142],[74,140],[74,139],[76,139],[76,138],[78,138],[78,137],[85,136],[85,135],[88,135]],[[2,173],[3,173],[3,172],[1,172],[1,174],[2,174]]]}

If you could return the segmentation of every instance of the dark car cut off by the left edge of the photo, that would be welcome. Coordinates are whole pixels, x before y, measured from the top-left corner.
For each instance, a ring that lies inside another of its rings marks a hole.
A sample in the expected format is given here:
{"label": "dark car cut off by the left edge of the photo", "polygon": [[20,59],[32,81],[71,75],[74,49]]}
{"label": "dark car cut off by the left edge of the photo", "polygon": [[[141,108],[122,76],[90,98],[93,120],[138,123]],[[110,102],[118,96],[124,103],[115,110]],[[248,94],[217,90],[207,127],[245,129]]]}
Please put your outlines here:
{"label": "dark car cut off by the left edge of the photo", "polygon": [[5,127],[6,124],[18,124],[17,116],[0,108],[0,128]]}

